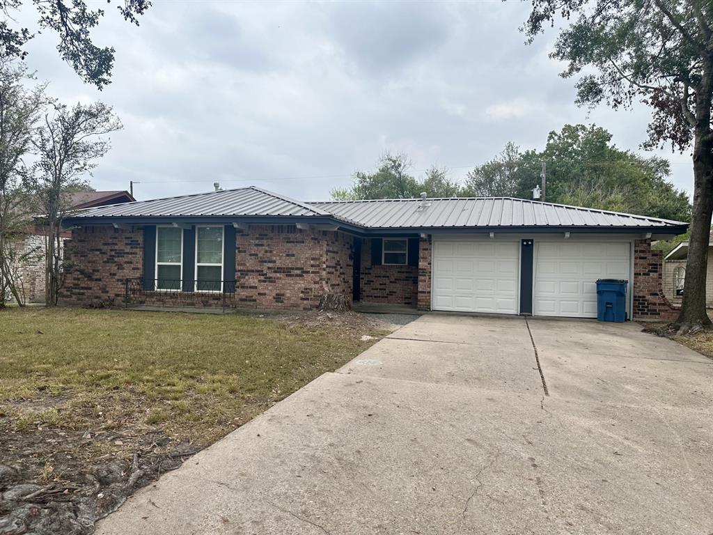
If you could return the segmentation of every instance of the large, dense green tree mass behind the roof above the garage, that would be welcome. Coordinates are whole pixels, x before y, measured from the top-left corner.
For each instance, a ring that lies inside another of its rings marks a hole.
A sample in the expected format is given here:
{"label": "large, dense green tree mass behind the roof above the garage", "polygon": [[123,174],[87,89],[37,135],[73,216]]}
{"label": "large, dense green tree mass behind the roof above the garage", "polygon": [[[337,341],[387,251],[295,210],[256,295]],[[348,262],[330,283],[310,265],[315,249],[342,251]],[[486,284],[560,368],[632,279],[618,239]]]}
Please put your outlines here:
{"label": "large, dense green tree mass behind the roof above the garage", "polygon": [[687,195],[668,180],[662,158],[642,158],[611,143],[595,125],[565,125],[550,132],[543,151],[520,152],[513,143],[468,173],[470,195],[532,198],[547,164],[549,202],[689,220]]}

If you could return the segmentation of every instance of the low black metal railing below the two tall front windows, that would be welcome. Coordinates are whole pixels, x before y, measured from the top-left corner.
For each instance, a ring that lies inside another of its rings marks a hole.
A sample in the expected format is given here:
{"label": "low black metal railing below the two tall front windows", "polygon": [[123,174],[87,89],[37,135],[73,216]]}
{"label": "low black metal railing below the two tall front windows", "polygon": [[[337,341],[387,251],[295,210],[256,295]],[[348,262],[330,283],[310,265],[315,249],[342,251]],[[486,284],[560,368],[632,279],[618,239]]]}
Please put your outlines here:
{"label": "low black metal railing below the two tall front windows", "polygon": [[[161,287],[158,288],[158,285]],[[190,288],[190,290],[183,290]],[[211,288],[217,288],[212,290]],[[222,288],[222,290],[220,290]],[[153,279],[147,290],[143,277],[125,281],[125,307],[154,305],[159,307],[232,307],[235,302],[235,280]]]}

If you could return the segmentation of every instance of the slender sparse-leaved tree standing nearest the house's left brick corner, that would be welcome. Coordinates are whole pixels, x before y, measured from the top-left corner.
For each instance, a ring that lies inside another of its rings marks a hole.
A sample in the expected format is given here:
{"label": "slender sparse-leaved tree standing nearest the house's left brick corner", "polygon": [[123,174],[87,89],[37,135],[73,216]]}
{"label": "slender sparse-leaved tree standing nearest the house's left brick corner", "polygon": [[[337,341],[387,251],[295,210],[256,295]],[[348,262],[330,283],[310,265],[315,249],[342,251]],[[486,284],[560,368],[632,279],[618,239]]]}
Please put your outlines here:
{"label": "slender sparse-leaved tree standing nearest the house's left brick corner", "polygon": [[85,175],[109,150],[106,134],[117,131],[121,123],[111,107],[93,104],[56,105],[46,114],[34,145],[39,157],[36,196],[47,227],[45,258],[45,303],[56,305],[61,287],[61,227],[70,208],[63,193],[81,187]]}

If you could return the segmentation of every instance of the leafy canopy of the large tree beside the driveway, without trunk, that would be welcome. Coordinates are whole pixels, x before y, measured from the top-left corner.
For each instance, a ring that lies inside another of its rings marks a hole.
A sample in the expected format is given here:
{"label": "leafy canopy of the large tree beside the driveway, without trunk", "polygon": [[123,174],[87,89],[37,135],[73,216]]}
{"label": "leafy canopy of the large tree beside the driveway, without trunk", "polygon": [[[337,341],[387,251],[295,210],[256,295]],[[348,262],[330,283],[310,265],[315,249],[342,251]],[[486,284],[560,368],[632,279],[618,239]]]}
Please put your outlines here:
{"label": "leafy canopy of the large tree beside the driveway, without trunk", "polygon": [[707,110],[710,120],[712,87],[704,75],[713,64],[713,2],[534,0],[524,26],[530,41],[560,17],[572,21],[550,56],[567,64],[565,78],[585,72],[578,103],[617,109],[642,101],[653,112],[647,144],[688,148],[697,113]]}

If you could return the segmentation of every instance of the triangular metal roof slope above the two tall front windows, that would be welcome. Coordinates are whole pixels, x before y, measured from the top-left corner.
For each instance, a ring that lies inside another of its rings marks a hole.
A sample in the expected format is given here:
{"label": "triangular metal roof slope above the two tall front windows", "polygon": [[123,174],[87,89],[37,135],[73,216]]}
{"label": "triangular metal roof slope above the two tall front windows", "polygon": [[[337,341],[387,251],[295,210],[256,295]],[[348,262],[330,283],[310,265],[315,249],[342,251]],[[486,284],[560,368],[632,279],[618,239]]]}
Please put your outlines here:
{"label": "triangular metal roof slope above the two tall front windows", "polygon": [[292,215],[329,216],[319,208],[250,186],[235,190],[211,191],[155,200],[139,200],[101,208],[79,210],[72,220],[81,218],[143,218],[172,216]]}

